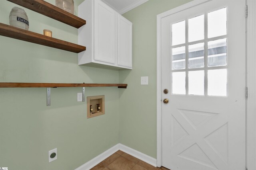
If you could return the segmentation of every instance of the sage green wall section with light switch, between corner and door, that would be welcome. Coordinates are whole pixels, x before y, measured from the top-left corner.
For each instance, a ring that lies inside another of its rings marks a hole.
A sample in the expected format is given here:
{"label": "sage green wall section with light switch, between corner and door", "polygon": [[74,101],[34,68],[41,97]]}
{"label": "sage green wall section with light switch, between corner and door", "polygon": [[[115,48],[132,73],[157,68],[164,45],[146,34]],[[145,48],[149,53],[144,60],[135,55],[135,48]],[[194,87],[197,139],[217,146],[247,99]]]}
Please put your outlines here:
{"label": "sage green wall section with light switch, between corner and door", "polygon": [[[133,23],[132,70],[119,72],[120,143],[156,158],[156,15],[190,0],[149,0],[123,16]],[[148,76],[148,86],[140,85]]]}

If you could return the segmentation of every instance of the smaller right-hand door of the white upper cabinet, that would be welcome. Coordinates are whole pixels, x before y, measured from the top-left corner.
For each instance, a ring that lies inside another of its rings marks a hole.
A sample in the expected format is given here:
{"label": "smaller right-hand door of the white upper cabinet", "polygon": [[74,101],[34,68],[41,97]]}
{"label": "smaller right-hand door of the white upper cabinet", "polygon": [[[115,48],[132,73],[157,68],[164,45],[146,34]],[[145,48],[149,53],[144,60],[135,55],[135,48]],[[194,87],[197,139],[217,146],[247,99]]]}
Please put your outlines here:
{"label": "smaller right-hand door of the white upper cabinet", "polygon": [[118,66],[132,68],[132,23],[118,15]]}

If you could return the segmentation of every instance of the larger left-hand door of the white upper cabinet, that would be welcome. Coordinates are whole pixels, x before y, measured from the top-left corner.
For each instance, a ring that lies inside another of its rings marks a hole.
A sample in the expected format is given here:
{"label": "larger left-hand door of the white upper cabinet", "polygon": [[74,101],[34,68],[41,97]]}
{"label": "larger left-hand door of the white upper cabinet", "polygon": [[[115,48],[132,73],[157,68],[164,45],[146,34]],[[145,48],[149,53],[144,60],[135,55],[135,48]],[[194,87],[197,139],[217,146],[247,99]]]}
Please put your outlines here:
{"label": "larger left-hand door of the white upper cabinet", "polygon": [[115,64],[115,11],[100,0],[94,1],[94,60]]}

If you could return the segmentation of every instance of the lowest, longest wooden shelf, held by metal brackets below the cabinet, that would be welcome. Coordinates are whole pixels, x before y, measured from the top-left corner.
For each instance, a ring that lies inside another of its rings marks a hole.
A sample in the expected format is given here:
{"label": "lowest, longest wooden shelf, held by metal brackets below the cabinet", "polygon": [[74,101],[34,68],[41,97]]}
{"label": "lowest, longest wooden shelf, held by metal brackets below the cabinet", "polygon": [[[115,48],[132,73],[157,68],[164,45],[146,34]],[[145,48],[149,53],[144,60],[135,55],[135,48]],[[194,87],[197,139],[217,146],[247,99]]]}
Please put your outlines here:
{"label": "lowest, longest wooden shelf, held by metal brackets below the cabinet", "polygon": [[90,83],[0,83],[0,88],[33,88],[33,87],[118,87],[126,88],[127,84],[90,84]]}

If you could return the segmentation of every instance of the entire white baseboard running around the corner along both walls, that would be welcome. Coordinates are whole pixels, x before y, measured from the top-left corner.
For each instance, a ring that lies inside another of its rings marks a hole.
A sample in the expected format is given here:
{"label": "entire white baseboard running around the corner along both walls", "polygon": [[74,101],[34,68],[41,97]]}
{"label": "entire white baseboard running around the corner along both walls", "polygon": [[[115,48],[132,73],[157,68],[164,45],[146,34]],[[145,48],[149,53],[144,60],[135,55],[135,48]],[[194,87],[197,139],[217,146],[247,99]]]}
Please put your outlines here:
{"label": "entire white baseboard running around the corner along both walls", "polygon": [[134,156],[135,158],[143,160],[144,162],[147,162],[148,164],[156,167],[156,159],[155,158],[152,158],[151,156],[148,156],[148,155],[146,155],[142,152],[139,152],[138,150],[132,149],[130,147],[126,147],[125,145],[122,145],[121,143],[118,143],[114,147],[106,150],[102,154],[100,154],[100,155],[96,156],[95,158],[89,160],[88,162],[79,166],[75,170],[90,170],[95,165],[102,162],[102,160],[108,158],[108,156],[112,155],[113,153],[115,153],[118,150],[122,150],[123,152],[126,152],[127,154],[130,154],[130,155]]}

